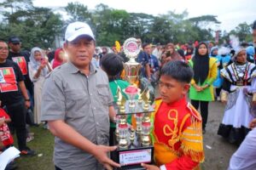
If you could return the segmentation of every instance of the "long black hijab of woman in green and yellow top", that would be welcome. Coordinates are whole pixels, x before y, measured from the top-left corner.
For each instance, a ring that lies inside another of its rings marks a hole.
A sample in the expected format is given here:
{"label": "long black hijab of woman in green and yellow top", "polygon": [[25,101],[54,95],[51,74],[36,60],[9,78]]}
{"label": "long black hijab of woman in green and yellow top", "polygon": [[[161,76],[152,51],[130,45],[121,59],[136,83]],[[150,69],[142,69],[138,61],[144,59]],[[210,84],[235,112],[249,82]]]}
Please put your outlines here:
{"label": "long black hijab of woman in green and yellow top", "polygon": [[195,56],[193,57],[193,70],[194,70],[194,80],[196,83],[200,82],[201,84],[206,81],[209,73],[209,54],[207,47],[207,54],[201,55],[198,52],[200,46],[204,44],[207,47],[207,43],[200,42],[195,48]]}

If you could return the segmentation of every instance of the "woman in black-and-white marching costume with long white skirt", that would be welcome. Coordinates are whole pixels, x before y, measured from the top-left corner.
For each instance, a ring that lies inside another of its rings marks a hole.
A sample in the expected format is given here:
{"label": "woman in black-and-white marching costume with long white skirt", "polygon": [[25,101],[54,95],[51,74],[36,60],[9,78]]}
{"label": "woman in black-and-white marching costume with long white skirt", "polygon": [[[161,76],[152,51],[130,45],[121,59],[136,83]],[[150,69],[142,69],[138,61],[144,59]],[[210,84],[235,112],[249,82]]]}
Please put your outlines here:
{"label": "woman in black-and-white marching costume with long white skirt", "polygon": [[230,143],[241,144],[256,117],[256,65],[247,61],[245,48],[239,49],[233,59],[220,71],[224,77],[221,100],[227,105],[218,134]]}

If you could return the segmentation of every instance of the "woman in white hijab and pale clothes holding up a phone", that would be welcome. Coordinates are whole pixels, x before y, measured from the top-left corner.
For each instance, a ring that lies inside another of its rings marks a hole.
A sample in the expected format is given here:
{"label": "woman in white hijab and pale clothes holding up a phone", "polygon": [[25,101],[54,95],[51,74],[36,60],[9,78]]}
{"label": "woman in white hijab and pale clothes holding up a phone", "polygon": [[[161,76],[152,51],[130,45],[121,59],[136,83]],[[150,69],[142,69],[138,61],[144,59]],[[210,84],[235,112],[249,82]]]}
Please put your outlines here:
{"label": "woman in white hijab and pale clothes holding up a phone", "polygon": [[41,94],[45,76],[52,71],[41,48],[32,48],[28,63],[29,77],[34,84],[34,122],[39,124],[41,116]]}

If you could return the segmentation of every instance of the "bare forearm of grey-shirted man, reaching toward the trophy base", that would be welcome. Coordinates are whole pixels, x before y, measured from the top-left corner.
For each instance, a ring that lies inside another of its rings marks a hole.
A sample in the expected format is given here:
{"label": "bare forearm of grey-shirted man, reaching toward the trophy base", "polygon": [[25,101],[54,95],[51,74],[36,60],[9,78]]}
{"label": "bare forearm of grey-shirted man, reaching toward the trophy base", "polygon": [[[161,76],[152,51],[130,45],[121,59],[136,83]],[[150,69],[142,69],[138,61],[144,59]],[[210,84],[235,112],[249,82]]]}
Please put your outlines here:
{"label": "bare forearm of grey-shirted man, reaching toward the trophy base", "polygon": [[96,151],[96,144],[93,144],[90,140],[84,138],[84,136],[75,131],[73,127],[70,127],[67,123],[61,120],[49,121],[48,123],[50,132],[56,137],[94,155],[94,152]]}

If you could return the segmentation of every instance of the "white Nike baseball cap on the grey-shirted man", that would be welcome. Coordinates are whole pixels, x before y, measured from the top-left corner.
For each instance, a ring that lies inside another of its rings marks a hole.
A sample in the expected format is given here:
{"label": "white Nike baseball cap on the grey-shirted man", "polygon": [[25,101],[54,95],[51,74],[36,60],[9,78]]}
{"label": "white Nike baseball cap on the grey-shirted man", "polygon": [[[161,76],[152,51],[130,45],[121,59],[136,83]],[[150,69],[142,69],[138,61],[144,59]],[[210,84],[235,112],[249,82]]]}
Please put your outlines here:
{"label": "white Nike baseball cap on the grey-shirted man", "polygon": [[89,36],[93,40],[95,40],[93,32],[91,31],[90,26],[88,24],[79,21],[73,22],[67,26],[65,32],[65,40],[68,42],[72,42],[74,39],[82,35]]}

